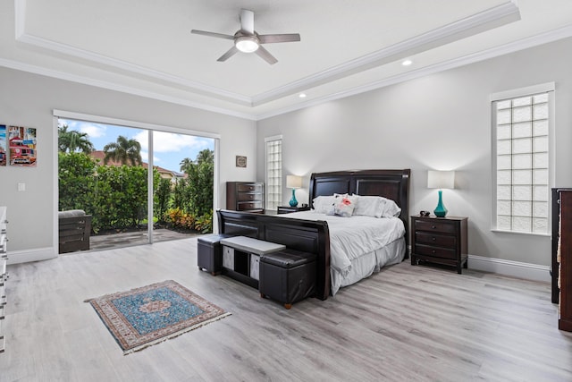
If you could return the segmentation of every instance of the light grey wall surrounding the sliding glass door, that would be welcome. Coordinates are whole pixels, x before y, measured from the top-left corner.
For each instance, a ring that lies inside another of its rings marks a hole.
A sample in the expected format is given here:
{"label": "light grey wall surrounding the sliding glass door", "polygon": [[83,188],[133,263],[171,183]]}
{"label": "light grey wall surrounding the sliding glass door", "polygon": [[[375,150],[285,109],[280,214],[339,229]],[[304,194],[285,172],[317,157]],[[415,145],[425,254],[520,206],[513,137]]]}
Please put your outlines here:
{"label": "light grey wall surrounding the sliding glass door", "polygon": [[[57,253],[54,109],[220,134],[219,207],[225,207],[226,181],[256,177],[253,121],[5,68],[0,68],[0,83],[0,124],[38,129],[38,166],[0,167],[0,205],[8,207],[11,262],[30,252]],[[236,155],[248,157],[247,168],[235,167]],[[20,182],[26,183],[25,192],[17,191]]]}

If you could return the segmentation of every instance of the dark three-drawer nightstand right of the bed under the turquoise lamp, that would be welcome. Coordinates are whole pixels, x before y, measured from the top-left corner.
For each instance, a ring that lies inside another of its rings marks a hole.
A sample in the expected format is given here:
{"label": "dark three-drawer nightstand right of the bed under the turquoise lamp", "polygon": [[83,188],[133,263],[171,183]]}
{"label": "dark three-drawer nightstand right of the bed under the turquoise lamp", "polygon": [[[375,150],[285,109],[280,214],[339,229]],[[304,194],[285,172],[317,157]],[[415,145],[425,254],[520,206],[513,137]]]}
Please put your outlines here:
{"label": "dark three-drawer nightstand right of the bed under the turquoise lamp", "polygon": [[467,268],[467,217],[411,216],[411,264],[419,260]]}

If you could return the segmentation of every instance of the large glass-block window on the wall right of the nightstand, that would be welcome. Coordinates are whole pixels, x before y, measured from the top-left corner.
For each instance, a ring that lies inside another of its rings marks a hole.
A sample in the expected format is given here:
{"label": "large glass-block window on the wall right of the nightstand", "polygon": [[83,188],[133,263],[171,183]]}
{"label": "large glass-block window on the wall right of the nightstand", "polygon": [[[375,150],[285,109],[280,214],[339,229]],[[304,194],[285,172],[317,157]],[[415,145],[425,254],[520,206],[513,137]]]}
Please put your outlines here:
{"label": "large glass-block window on the wall right of the nightstand", "polygon": [[549,232],[553,89],[552,83],[492,98],[497,230]]}

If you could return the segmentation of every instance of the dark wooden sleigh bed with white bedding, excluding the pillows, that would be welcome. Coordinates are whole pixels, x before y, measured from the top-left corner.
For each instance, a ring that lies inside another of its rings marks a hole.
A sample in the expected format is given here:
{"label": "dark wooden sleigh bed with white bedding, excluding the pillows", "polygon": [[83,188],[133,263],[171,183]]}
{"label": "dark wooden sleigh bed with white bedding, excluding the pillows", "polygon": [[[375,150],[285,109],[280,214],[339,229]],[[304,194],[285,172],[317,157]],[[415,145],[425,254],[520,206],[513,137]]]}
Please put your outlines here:
{"label": "dark wooden sleigh bed with white bedding, excluding the pillows", "polygon": [[[354,284],[383,266],[407,258],[409,176],[408,169],[315,173],[311,175],[309,183],[309,200],[313,211],[272,216],[218,210],[219,233],[246,235],[278,242],[294,250],[315,253],[316,297],[325,300],[341,287]],[[344,218],[316,212],[313,201],[317,197],[334,194],[381,196],[394,201],[400,208],[400,215],[381,219],[368,217],[370,220],[367,221],[366,216]],[[358,245],[363,247],[362,251],[357,250],[349,259],[332,258],[332,251],[336,256],[336,251],[348,250],[343,241],[349,240],[350,236],[340,239],[338,235],[347,230],[341,223],[346,224],[349,220],[359,220],[357,225],[366,227],[374,221],[380,225],[392,225],[399,232],[385,234],[386,240],[377,242],[380,245]]]}

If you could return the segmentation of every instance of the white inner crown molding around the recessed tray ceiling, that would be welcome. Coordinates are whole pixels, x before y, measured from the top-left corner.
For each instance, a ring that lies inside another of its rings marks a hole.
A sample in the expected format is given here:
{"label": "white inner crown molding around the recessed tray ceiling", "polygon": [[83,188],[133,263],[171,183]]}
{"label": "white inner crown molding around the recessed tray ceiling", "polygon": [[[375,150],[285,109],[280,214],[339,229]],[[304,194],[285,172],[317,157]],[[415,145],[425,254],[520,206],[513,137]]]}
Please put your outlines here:
{"label": "white inner crown molding around the recessed tray ceiling", "polygon": [[147,78],[174,84],[177,87],[181,87],[182,85],[184,88],[188,89],[188,91],[200,95],[218,98],[241,106],[250,107],[263,105],[278,98],[290,96],[300,90],[314,88],[315,86],[324,84],[325,82],[334,81],[356,72],[362,72],[374,66],[397,60],[403,56],[419,53],[420,51],[431,47],[437,47],[459,38],[465,38],[483,30],[489,30],[498,27],[501,24],[516,21],[520,18],[517,4],[512,1],[508,1],[505,4],[498,5],[485,10],[484,12],[475,13],[474,15],[460,21],[452,22],[442,28],[429,31],[414,38],[409,38],[405,41],[394,44],[391,47],[383,48],[372,54],[364,55],[355,60],[350,60],[347,63],[334,66],[323,72],[318,72],[299,81],[291,82],[288,85],[272,89],[250,98],[224,89],[215,88],[198,81],[190,81],[179,76],[159,72],[138,64],[130,64],[106,55],[100,55],[78,47],[71,47],[70,45],[27,34],[25,31],[26,0],[17,0],[14,4],[15,38],[21,43],[41,47],[64,55],[71,55],[89,62],[104,64],[122,71],[137,73],[139,75],[146,76]]}

